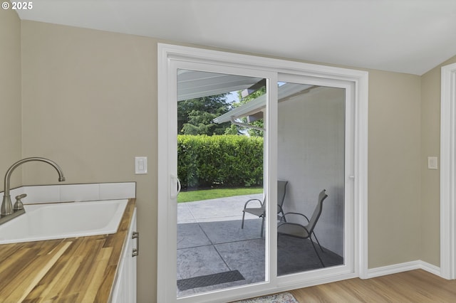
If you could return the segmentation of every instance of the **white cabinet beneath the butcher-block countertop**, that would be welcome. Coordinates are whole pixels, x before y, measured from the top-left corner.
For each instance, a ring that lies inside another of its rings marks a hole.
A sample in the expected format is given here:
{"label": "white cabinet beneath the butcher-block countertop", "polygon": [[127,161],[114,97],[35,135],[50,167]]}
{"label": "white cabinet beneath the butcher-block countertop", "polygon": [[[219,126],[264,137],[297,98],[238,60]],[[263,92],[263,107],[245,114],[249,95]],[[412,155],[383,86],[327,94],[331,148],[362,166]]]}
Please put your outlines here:
{"label": "white cabinet beneath the butcher-block countertop", "polygon": [[126,243],[120,259],[111,302],[136,302],[136,256],[139,249],[139,233],[136,231],[136,208],[128,228]]}

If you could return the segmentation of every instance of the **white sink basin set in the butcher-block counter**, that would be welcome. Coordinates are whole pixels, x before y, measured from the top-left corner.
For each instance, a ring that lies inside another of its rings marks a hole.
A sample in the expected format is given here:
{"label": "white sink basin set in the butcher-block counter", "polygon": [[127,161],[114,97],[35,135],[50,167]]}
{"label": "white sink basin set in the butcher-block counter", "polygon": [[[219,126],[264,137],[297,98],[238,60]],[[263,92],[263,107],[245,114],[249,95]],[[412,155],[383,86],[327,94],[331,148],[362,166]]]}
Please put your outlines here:
{"label": "white sink basin set in the butcher-block counter", "polygon": [[128,200],[25,205],[0,225],[0,244],[116,233]]}

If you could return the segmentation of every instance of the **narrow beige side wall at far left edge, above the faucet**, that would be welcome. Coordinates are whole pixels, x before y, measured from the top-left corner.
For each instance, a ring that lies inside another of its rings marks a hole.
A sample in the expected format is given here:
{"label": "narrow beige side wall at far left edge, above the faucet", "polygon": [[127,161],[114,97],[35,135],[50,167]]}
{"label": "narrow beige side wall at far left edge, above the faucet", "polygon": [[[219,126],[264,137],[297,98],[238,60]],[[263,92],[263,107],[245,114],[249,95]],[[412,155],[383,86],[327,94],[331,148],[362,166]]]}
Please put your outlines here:
{"label": "narrow beige side wall at far left edge, above the faucet", "polygon": [[[21,21],[16,11],[0,9],[0,191],[3,176],[21,159]],[[21,170],[11,175],[20,186]]]}

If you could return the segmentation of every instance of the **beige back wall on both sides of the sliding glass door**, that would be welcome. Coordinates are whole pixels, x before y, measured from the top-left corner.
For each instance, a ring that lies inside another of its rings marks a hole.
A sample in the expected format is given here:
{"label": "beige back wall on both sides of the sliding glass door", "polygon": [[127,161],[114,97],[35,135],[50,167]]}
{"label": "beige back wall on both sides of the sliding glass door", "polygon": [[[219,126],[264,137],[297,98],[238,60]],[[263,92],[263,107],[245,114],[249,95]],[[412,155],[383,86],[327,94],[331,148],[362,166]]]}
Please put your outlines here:
{"label": "beige back wall on both sides of the sliding glass door", "polygon": [[[138,182],[138,302],[156,294],[156,48],[152,38],[22,22],[23,156],[57,161],[67,183]],[[421,88],[415,75],[369,72],[373,268],[420,259]],[[134,156],[149,157],[149,174],[134,174]],[[23,181],[54,184],[54,174],[31,163]]]}

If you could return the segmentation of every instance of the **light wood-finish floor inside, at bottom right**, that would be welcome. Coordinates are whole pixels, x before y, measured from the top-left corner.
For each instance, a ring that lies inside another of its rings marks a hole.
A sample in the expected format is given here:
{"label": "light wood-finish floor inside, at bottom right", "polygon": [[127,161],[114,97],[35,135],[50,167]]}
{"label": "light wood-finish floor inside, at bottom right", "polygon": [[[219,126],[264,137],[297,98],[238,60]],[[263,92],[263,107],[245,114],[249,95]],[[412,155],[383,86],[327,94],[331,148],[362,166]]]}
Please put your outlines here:
{"label": "light wood-finish floor inside, at bottom right", "polygon": [[350,279],[290,291],[299,303],[309,302],[456,302],[456,280],[425,270],[372,279]]}

